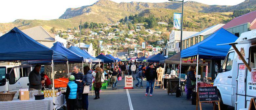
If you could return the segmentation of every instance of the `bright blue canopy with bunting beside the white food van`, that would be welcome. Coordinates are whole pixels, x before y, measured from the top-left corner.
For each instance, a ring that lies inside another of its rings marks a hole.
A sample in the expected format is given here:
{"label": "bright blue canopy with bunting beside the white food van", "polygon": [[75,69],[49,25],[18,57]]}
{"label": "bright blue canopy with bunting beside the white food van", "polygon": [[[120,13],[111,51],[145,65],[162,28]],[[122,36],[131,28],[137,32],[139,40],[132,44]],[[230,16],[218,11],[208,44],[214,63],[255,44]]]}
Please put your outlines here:
{"label": "bright blue canopy with bunting beside the white food van", "polygon": [[181,50],[181,58],[199,55],[200,59],[224,59],[231,46],[217,46],[217,44],[235,42],[237,38],[234,34],[221,28],[202,42]]}

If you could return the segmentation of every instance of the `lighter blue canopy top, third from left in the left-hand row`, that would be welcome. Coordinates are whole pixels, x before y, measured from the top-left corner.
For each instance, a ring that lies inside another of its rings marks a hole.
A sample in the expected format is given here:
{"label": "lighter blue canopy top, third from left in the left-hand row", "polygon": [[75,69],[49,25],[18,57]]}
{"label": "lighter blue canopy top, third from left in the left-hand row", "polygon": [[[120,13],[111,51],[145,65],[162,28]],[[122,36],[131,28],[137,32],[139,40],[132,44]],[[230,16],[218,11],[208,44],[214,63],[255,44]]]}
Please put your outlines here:
{"label": "lighter blue canopy top, third from left in the left-hand row", "polygon": [[[99,62],[99,59],[91,57],[85,51],[81,50],[80,48],[78,48],[76,46],[70,46],[68,49],[71,50],[72,52],[76,53],[77,55],[82,56],[83,58],[90,59],[89,60],[90,62]],[[100,62],[102,62],[102,61],[100,61]]]}

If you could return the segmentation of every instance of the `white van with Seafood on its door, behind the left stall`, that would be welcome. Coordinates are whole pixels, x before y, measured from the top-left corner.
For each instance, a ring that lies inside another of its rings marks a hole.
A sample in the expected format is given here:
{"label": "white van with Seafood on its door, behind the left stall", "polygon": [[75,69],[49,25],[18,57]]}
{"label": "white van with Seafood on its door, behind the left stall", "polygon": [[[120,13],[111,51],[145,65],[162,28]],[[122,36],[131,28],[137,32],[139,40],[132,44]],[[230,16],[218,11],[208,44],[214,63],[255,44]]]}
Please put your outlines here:
{"label": "white van with Seafood on its door, behind the left stall", "polygon": [[29,88],[29,73],[32,71],[31,65],[23,66],[0,66],[0,92],[17,91],[14,99],[18,98],[18,90]]}

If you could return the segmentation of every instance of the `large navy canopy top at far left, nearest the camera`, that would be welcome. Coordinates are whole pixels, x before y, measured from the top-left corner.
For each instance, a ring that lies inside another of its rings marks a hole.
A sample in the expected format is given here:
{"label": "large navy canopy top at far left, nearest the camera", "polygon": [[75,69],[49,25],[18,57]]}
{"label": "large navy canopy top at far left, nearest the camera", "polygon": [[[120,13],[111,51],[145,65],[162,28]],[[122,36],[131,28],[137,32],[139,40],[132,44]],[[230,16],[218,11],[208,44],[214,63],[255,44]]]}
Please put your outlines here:
{"label": "large navy canopy top at far left, nearest the camera", "polygon": [[14,27],[0,37],[0,61],[67,60],[67,56],[56,52]]}

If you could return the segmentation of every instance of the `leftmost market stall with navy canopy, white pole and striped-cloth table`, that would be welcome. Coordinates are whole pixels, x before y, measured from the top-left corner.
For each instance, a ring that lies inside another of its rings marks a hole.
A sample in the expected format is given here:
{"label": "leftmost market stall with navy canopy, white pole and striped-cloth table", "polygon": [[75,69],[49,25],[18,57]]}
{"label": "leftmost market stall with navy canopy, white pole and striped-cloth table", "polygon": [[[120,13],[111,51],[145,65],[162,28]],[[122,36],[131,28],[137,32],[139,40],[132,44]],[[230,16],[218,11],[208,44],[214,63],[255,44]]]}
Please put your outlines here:
{"label": "leftmost market stall with navy canopy, white pole and striped-cloth table", "polygon": [[[33,40],[31,37],[20,31],[17,27],[14,27],[11,29],[8,33],[4,34],[0,37],[0,61],[1,62],[22,62],[22,61],[51,61],[51,65],[53,65],[54,61],[67,61],[68,58],[66,55],[63,55],[57,51],[54,51],[37,41]],[[10,74],[7,74],[10,75]],[[53,80],[53,66],[52,66],[52,80]],[[8,76],[6,79],[9,80],[11,76]],[[19,81],[19,79],[18,79]],[[18,84],[20,85],[20,84]],[[14,90],[9,90],[9,92],[12,91],[19,91],[20,89],[27,88],[27,86],[21,86],[17,87]],[[53,80],[53,88],[54,88],[54,80]],[[18,93],[16,93],[18,94]],[[55,94],[55,91],[53,91],[53,94]],[[19,94],[20,95],[20,94]],[[22,95],[22,94],[21,94]],[[61,99],[64,98],[63,95],[60,95]],[[34,104],[25,104],[29,107],[39,107],[44,108],[45,106],[40,105],[41,100],[28,100],[30,103],[34,102]],[[13,104],[15,103],[16,104]],[[57,99],[55,97],[52,97],[50,99],[49,103],[57,104]],[[10,101],[10,103],[1,103],[1,107],[7,106],[11,107],[15,105],[16,107],[20,107],[22,103],[19,103],[19,101],[13,101],[13,103]],[[24,105],[24,104],[23,104]],[[62,106],[62,105],[60,105]],[[56,106],[53,106],[53,108],[56,108]]]}

